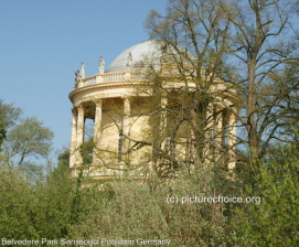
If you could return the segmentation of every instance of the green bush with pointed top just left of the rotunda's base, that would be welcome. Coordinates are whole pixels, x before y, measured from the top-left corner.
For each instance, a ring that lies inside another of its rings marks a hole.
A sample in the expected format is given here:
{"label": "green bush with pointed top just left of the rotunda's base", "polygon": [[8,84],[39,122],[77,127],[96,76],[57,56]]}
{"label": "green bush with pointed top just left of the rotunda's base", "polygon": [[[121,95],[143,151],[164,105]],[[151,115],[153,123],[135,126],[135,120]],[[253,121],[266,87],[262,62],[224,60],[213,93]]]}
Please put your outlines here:
{"label": "green bush with pointed top just left of the rotunda's base", "polygon": [[63,151],[57,165],[35,184],[34,228],[40,237],[67,237],[71,227],[74,184],[70,180],[70,151]]}

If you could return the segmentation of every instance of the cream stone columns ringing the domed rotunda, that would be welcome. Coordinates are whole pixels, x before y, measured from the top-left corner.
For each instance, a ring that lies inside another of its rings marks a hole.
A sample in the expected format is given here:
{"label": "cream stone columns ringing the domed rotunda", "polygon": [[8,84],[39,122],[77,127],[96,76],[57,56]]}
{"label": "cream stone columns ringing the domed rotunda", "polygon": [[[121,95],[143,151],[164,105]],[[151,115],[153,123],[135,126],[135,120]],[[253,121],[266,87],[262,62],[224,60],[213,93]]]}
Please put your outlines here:
{"label": "cream stone columns ringing the domed rotunda", "polygon": [[[103,108],[105,104],[105,99],[97,99],[93,101],[95,105],[95,125],[94,125],[94,152],[93,152],[93,165],[100,164],[100,157],[99,151],[100,150],[100,138],[102,138],[102,128],[103,128]],[[130,97],[124,97],[122,98],[122,116],[121,119],[121,135],[129,136],[129,129],[131,128],[131,98]],[[161,106],[163,108],[167,108],[167,98],[163,98],[161,101]],[[212,104],[213,105],[213,104]],[[83,157],[81,153],[81,147],[84,143],[84,136],[85,136],[85,119],[86,119],[86,109],[85,107],[88,106],[88,101],[82,103],[81,105],[75,106],[73,111],[73,124],[72,124],[72,138],[71,138],[71,161],[70,167],[81,167],[83,165]],[[221,111],[220,106],[213,105],[212,111],[207,114],[207,117],[212,116],[215,110]],[[227,168],[234,169],[235,167],[235,159],[234,159],[234,147],[235,147],[235,138],[236,138],[236,117],[233,111],[229,111],[229,109],[226,110],[226,114],[217,114],[216,117],[213,117],[213,121],[216,121],[213,124],[215,126],[216,133],[212,135],[216,139],[216,142],[218,144],[222,144],[225,142],[228,149],[228,163]],[[164,122],[164,125],[167,125]],[[117,136],[117,133],[116,133]],[[211,136],[206,136],[206,138],[211,138]],[[124,143],[122,143],[124,144]],[[115,151],[118,150],[119,147],[116,147]],[[124,147],[122,147],[124,148]]]}

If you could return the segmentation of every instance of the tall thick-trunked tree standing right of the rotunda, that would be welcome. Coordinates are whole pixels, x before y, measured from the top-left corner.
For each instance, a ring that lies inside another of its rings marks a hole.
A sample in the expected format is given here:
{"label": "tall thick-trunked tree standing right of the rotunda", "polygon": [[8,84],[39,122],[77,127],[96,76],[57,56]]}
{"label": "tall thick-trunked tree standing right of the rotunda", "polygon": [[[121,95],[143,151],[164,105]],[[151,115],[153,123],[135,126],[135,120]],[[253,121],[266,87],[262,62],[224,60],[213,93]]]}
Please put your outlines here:
{"label": "tall thick-trunked tree standing right of the rotunda", "polygon": [[227,47],[236,61],[232,65],[243,103],[239,138],[256,167],[274,140],[289,141],[284,131],[297,121],[298,104],[291,100],[299,90],[293,1],[220,2],[232,23]]}

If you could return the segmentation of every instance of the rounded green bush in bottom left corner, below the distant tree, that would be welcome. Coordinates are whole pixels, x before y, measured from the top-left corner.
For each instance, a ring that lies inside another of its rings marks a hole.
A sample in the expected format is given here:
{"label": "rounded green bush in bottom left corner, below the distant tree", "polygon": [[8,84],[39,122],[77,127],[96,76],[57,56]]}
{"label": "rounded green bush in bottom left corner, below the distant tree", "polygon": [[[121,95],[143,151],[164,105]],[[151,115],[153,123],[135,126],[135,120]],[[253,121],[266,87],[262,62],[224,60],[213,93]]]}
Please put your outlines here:
{"label": "rounded green bush in bottom left corner, below the distant tree", "polygon": [[39,237],[34,227],[33,186],[15,168],[0,165],[0,233],[4,238]]}

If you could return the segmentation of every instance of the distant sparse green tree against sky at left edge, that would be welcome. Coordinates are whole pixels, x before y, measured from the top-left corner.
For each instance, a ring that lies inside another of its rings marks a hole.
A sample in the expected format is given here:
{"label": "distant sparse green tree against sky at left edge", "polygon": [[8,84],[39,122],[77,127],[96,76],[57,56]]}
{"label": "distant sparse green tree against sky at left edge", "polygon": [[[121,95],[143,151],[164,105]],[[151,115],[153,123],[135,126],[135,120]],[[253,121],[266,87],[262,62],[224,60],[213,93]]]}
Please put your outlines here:
{"label": "distant sparse green tree against sky at left edge", "polygon": [[1,103],[1,125],[6,129],[1,163],[21,167],[33,164],[30,158],[46,158],[54,133],[36,117],[21,118],[22,110]]}

